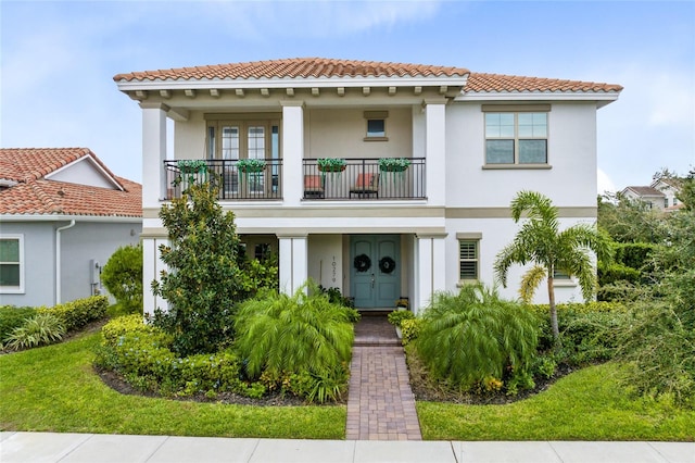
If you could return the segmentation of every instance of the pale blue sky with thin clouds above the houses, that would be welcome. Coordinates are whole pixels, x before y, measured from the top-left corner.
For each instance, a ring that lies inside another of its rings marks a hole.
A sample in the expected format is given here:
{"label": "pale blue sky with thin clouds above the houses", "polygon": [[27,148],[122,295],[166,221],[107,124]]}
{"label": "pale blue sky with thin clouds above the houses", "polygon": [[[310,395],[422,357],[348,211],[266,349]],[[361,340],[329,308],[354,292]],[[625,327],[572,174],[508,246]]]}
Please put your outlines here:
{"label": "pale blue sky with thin clouds above the houses", "polygon": [[141,182],[118,73],[298,57],[620,84],[599,191],[695,167],[693,1],[0,0],[0,146],[87,147]]}

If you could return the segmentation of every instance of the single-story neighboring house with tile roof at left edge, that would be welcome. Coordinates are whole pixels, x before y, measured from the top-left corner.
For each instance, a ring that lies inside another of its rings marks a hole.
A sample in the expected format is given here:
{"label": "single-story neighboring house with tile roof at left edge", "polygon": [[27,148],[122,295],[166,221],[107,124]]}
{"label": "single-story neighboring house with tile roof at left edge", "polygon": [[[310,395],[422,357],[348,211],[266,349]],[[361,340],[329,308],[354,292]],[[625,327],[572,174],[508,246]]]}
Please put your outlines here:
{"label": "single-story neighboring house with tile roof at left edge", "polygon": [[0,304],[99,293],[99,274],[142,232],[142,188],[87,148],[0,149]]}

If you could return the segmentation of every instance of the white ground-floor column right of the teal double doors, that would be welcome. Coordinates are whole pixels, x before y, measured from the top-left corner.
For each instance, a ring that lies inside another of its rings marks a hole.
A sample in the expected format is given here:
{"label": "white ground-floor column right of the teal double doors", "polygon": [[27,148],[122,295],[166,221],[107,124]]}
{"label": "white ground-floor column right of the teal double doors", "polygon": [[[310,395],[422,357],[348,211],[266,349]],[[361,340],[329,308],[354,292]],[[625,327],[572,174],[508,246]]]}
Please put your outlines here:
{"label": "white ground-floor column right of the teal double doors", "polygon": [[413,310],[421,311],[430,303],[432,295],[446,289],[446,234],[417,235],[416,300]]}

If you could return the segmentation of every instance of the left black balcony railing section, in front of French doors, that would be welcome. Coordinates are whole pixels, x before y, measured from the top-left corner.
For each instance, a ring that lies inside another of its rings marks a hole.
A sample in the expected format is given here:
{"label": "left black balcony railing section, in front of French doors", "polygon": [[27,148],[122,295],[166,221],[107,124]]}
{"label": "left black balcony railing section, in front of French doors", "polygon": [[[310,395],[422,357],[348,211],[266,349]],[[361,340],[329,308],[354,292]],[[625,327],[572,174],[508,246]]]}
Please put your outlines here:
{"label": "left black balcony railing section, in front of French doors", "polygon": [[[197,162],[202,161],[202,162]],[[282,198],[281,159],[244,165],[239,160],[164,161],[166,199],[180,198],[193,183],[219,183],[220,200],[268,200]]]}

